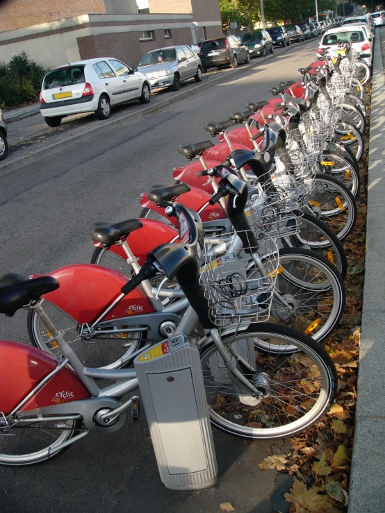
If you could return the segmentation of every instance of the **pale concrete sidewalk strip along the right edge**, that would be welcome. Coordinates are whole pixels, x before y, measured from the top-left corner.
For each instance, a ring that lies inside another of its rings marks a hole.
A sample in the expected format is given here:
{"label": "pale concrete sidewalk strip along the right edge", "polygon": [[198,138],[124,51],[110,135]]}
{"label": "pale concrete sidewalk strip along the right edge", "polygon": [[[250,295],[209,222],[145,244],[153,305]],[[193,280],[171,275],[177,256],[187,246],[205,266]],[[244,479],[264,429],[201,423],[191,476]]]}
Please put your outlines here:
{"label": "pale concrete sidewalk strip along the right edge", "polygon": [[380,28],[373,64],[365,286],[348,513],[385,512],[384,60],[385,28]]}

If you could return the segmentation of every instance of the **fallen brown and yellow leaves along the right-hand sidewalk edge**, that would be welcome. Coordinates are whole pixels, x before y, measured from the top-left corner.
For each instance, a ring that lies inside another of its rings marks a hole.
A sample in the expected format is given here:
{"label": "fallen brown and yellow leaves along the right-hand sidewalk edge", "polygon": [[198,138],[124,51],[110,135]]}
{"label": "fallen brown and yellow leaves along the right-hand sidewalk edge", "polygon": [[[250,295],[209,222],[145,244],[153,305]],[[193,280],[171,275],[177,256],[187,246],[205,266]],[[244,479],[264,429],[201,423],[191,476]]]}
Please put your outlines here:
{"label": "fallen brown and yellow leaves along the right-hand sidewalk edge", "polygon": [[[370,96],[370,85],[366,92]],[[369,123],[363,136],[368,141]],[[365,269],[368,147],[359,167],[359,216],[344,243],[348,258],[345,312],[338,330],[323,344],[338,373],[336,402],[315,426],[286,440],[290,446],[286,453],[276,453],[273,446],[272,454],[259,465],[261,469],[276,469],[293,476],[293,485],[285,494],[291,503],[290,513],[342,513],[348,502]]]}

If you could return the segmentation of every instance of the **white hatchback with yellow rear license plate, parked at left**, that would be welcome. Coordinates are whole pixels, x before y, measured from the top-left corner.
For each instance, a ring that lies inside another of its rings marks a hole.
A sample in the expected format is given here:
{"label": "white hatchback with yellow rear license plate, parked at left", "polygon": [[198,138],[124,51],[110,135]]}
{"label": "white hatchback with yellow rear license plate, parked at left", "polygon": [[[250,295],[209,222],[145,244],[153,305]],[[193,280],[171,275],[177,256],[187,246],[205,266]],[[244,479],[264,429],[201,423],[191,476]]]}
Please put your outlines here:
{"label": "white hatchback with yellow rear license plate, parked at left", "polygon": [[101,57],[48,72],[40,91],[40,113],[48,126],[59,126],[71,114],[95,112],[97,119],[108,119],[111,107],[133,99],[148,103],[150,98],[145,74],[113,57]]}

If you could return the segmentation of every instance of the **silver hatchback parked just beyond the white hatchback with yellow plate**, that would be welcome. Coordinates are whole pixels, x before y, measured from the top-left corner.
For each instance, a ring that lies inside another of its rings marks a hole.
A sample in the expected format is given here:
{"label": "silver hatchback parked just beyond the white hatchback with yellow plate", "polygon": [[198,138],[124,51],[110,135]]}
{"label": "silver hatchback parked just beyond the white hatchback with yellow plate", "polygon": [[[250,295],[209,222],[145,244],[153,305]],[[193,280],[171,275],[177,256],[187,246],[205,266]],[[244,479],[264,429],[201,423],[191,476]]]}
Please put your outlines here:
{"label": "silver hatchback parked just beyond the white hatchback with yellow plate", "polygon": [[151,90],[170,87],[178,91],[189,78],[202,81],[202,62],[191,47],[180,45],[149,51],[138,65],[151,84]]}

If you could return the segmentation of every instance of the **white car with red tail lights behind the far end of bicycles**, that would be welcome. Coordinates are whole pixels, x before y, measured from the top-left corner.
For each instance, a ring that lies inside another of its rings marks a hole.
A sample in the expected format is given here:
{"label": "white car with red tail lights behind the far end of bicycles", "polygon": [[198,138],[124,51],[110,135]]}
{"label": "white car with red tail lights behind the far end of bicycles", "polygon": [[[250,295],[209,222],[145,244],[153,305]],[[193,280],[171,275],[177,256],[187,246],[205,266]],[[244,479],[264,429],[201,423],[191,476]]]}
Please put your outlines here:
{"label": "white car with red tail lights behind the far end of bicycles", "polygon": [[321,53],[322,48],[330,47],[329,54],[336,57],[341,52],[339,45],[343,41],[352,41],[352,48],[359,53],[366,64],[369,66],[372,64],[372,37],[368,37],[366,31],[356,26],[343,25],[327,31],[322,37],[317,53]]}

